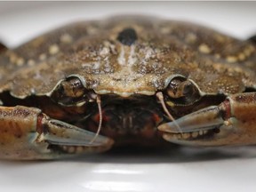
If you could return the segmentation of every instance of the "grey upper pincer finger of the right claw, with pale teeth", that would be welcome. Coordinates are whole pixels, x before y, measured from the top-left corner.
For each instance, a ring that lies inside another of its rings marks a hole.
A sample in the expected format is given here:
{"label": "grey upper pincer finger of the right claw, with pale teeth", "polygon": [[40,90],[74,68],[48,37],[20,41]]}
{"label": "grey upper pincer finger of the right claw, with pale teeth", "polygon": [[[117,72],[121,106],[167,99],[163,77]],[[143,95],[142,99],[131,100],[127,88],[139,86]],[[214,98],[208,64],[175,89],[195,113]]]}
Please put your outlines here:
{"label": "grey upper pincer finger of the right claw, with pale teeth", "polygon": [[195,140],[210,137],[220,132],[219,128],[222,124],[224,124],[224,120],[221,116],[220,108],[211,106],[187,116],[182,116],[173,122],[161,124],[157,128],[162,132],[166,132],[168,137],[172,136],[174,140]]}

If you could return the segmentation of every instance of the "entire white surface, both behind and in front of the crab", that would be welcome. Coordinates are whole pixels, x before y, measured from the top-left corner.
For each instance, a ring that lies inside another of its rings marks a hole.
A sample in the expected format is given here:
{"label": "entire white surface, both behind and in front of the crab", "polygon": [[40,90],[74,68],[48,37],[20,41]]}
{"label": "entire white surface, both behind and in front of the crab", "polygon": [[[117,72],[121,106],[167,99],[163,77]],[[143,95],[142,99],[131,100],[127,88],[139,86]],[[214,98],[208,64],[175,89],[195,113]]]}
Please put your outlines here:
{"label": "entire white surface, both behind and in front of the crab", "polygon": [[[72,20],[147,13],[194,20],[240,38],[256,3],[0,3],[0,38],[16,46]],[[256,148],[177,148],[49,162],[0,161],[0,191],[256,191]]]}

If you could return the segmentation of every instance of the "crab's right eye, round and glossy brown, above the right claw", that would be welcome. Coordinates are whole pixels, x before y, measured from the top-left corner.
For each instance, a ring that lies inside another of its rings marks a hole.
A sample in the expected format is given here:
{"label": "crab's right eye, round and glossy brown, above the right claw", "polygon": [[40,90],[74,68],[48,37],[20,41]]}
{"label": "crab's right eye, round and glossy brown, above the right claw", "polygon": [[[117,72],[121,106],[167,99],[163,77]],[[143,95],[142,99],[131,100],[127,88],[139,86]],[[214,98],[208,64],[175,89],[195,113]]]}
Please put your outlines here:
{"label": "crab's right eye, round and glossy brown, above the right claw", "polygon": [[200,98],[196,85],[180,76],[172,79],[166,88],[166,93],[174,103],[184,105],[192,104]]}

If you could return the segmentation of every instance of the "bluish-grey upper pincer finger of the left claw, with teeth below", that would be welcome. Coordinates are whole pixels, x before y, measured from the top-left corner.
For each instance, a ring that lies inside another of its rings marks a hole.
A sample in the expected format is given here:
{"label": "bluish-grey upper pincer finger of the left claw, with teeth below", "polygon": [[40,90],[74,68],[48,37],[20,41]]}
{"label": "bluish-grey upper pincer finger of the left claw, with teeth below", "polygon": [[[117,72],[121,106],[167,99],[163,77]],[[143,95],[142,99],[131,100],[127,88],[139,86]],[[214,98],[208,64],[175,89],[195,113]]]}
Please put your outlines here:
{"label": "bluish-grey upper pincer finger of the left claw, with teeth below", "polygon": [[[72,124],[67,124],[48,116],[41,115],[37,118],[37,132],[35,145],[45,150],[44,154],[51,154],[51,157],[82,154],[88,152],[101,152],[112,147],[114,141],[96,135]],[[41,145],[43,144],[43,148]]]}

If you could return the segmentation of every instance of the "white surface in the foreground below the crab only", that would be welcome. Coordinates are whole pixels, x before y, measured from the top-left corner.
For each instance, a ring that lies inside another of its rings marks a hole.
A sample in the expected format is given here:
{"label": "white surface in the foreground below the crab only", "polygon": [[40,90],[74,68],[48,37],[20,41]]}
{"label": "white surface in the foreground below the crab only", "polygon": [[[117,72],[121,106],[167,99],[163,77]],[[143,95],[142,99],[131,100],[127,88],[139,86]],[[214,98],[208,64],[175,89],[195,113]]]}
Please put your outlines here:
{"label": "white surface in the foreground below the crab only", "polygon": [[255,192],[255,148],[178,148],[48,162],[0,161],[2,192]]}

